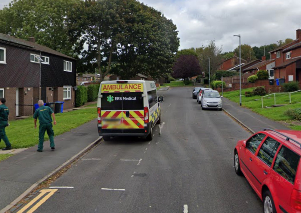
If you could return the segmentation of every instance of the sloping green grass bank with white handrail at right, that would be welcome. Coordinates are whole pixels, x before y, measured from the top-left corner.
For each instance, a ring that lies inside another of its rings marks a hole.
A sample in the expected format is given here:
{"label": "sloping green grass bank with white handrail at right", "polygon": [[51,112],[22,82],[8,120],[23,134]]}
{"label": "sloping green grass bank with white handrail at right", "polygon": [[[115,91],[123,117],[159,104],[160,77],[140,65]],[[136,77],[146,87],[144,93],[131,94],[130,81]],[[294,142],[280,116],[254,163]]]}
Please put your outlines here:
{"label": "sloping green grass bank with white handrail at right", "polygon": [[[288,109],[301,108],[301,93],[297,92],[291,94],[291,104],[289,94],[276,94],[276,104],[287,104],[286,106],[272,107],[272,108],[262,108],[261,96],[246,97],[245,92],[253,91],[253,88],[247,88],[241,90],[241,102],[242,106],[251,109],[266,118],[285,122],[290,128],[295,130],[301,130],[301,122],[294,121],[290,116],[285,115],[285,111]],[[239,103],[239,90],[224,92],[224,97],[229,100]],[[263,98],[263,106],[272,106],[275,104],[274,95]],[[259,99],[259,100],[256,100]]]}

